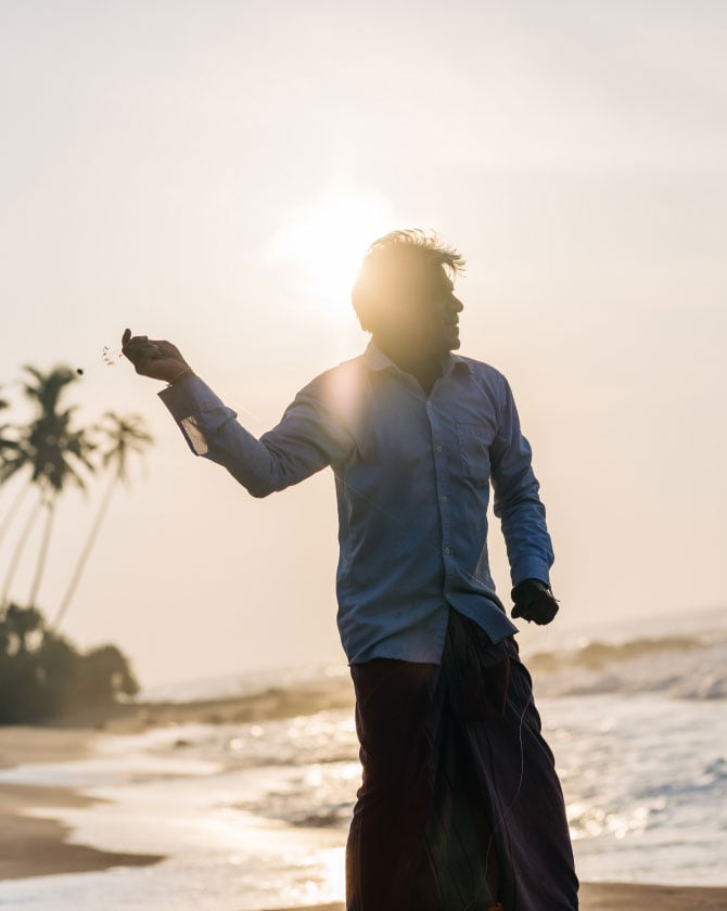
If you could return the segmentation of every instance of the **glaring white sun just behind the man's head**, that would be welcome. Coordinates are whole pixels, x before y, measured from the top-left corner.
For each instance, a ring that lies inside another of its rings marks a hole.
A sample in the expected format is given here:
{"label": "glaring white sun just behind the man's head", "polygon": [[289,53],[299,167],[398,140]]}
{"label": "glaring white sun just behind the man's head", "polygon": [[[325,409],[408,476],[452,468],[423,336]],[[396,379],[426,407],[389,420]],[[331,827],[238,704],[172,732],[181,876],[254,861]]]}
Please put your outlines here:
{"label": "glaring white sun just behind the man's head", "polygon": [[392,229],[392,207],[382,196],[330,193],[293,214],[272,240],[270,260],[322,306],[348,315],[364,254]]}

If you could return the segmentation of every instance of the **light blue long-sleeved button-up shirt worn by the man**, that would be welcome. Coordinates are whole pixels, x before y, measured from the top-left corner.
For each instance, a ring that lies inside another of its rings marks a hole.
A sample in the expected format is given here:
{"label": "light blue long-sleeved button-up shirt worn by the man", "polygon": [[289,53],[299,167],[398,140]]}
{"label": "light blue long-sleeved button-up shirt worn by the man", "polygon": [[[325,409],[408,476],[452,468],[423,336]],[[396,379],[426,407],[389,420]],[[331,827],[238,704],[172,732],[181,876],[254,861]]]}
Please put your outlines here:
{"label": "light blue long-sleeved button-up shirt worn by the man", "polygon": [[549,583],[553,553],[531,447],[507,380],[486,363],[448,355],[426,396],[370,343],[303,388],[259,440],[197,376],[160,396],[192,451],[254,497],[332,467],[337,623],[352,664],[438,663],[450,607],[494,642],[518,631],[489,572],[490,484],[512,583]]}

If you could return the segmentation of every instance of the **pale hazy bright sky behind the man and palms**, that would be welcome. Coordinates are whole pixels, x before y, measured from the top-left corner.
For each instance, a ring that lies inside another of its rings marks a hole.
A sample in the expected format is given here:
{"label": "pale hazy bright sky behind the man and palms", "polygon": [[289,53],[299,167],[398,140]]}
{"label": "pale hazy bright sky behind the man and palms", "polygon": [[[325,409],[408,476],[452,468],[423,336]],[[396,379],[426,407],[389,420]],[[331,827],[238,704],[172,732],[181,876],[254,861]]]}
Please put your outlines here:
{"label": "pale hazy bright sky behind the man and palms", "polygon": [[[364,348],[356,261],[414,226],[467,256],[462,352],[534,448],[562,608],[527,641],[724,603],[726,26],[716,0],[5,0],[0,385],[82,367],[86,418],[157,438],[66,632],[145,684],[344,664],[330,473],[253,500],[101,350],[175,342],[259,435]],[[99,495],[61,503],[51,613]]]}

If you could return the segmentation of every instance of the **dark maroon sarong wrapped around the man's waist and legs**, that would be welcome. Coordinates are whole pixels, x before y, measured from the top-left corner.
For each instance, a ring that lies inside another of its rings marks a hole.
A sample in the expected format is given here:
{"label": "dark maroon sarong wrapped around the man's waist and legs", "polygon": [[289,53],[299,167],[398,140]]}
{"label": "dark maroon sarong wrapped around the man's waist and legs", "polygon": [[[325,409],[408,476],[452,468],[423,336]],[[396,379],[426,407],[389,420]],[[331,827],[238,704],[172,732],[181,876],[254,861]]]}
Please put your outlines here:
{"label": "dark maroon sarong wrapped around the man's waist and legs", "polygon": [[450,611],[442,665],[352,665],[364,779],[347,911],[576,911],[552,754],[514,639]]}

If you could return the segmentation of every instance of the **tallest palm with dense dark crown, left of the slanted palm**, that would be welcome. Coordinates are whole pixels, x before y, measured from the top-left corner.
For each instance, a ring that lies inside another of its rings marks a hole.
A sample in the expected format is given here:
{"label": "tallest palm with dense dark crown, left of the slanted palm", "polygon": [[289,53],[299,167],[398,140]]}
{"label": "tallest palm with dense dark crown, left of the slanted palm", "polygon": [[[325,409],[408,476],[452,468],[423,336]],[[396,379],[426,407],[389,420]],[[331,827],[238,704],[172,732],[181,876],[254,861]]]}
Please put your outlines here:
{"label": "tallest palm with dense dark crown, left of the slanted palm", "polygon": [[76,408],[60,410],[63,392],[78,378],[77,374],[64,365],[54,367],[48,373],[35,367],[25,367],[24,370],[29,376],[23,384],[23,393],[35,405],[36,418],[20,428],[10,458],[3,455],[0,480],[8,480],[28,471],[30,483],[40,491],[40,506],[34,510],[21,535],[0,594],[0,604],[7,603],[25,543],[39,509],[42,508],[46,511],[46,525],[30,587],[28,604],[33,605],[46,566],[58,497],[71,483],[80,489],[86,488],[82,472],[93,471],[89,454],[94,447],[88,432],[74,426]]}

